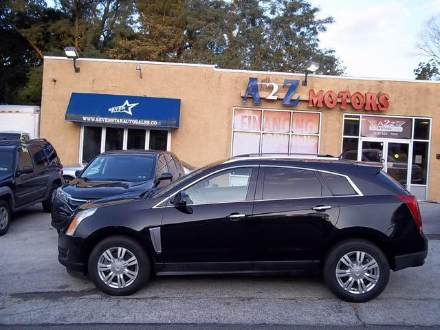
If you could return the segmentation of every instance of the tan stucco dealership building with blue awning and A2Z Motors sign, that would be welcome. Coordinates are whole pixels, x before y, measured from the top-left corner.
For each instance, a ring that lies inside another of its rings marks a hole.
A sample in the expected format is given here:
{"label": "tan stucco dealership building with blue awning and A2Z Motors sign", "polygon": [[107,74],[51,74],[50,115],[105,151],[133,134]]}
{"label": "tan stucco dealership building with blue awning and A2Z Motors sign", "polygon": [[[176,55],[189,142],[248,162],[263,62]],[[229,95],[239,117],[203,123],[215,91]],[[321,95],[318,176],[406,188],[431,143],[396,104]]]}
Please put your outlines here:
{"label": "tan stucco dealership building with blue awning and A2Z Motors sign", "polygon": [[440,199],[438,82],[72,62],[46,56],[43,72],[41,137],[65,165],[133,148],[172,151],[195,166],[320,153],[382,162],[419,199]]}

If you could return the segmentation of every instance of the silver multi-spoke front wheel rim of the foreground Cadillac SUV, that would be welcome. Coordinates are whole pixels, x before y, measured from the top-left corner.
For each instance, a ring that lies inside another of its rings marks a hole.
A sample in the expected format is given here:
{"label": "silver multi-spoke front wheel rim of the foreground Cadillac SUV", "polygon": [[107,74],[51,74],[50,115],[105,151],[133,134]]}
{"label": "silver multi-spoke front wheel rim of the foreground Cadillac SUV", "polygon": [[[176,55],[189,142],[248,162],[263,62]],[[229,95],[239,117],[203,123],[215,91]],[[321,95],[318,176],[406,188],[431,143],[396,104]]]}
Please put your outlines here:
{"label": "silver multi-spoke front wheel rim of the foreground Cadillac SUV", "polygon": [[126,248],[110,248],[98,259],[98,275],[109,287],[128,287],[137,278],[139,264],[133,253]]}

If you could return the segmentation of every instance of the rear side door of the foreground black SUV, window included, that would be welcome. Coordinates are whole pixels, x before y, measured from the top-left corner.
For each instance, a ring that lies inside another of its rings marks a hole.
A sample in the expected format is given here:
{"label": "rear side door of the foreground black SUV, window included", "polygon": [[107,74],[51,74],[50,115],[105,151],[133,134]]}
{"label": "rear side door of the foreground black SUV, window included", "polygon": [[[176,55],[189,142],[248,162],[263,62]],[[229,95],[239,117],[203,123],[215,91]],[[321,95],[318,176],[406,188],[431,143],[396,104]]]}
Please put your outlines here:
{"label": "rear side door of the foreground black SUV, window included", "polygon": [[262,166],[252,215],[254,269],[320,260],[338,215],[338,203],[318,171]]}

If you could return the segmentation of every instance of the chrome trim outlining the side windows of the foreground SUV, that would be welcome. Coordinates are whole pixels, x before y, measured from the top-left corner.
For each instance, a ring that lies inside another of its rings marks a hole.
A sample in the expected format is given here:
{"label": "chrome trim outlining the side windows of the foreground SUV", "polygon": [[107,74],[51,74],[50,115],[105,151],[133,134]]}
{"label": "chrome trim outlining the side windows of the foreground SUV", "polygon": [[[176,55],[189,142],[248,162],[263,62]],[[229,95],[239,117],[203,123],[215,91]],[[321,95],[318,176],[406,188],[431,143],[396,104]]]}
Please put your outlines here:
{"label": "chrome trim outlining the side windows of the foreground SUV", "polygon": [[[290,197],[290,198],[279,198],[279,199],[254,199],[252,201],[278,201],[278,200],[289,200],[289,199],[310,199],[310,198],[329,198],[329,197],[332,197],[332,198],[336,198],[336,197],[362,197],[362,196],[364,196],[362,191],[358,188],[358,186],[355,185],[353,180],[351,180],[351,178],[348,175],[344,175],[344,174],[341,174],[341,173],[331,172],[330,170],[320,170],[318,168],[307,168],[307,167],[289,166],[289,165],[266,165],[266,164],[258,164],[258,165],[256,165],[256,164],[253,164],[253,165],[239,165],[239,166],[231,166],[231,167],[228,167],[228,168],[221,168],[220,170],[216,170],[216,171],[214,171],[212,173],[209,173],[208,175],[205,175],[205,176],[201,177],[200,179],[197,179],[197,181],[193,181],[192,183],[184,186],[184,188],[181,188],[180,190],[177,190],[176,192],[173,193],[173,195],[170,195],[170,196],[162,199],[162,201],[160,201],[159,203],[155,204],[155,206],[153,206],[153,208],[175,207],[175,206],[159,206],[159,205],[161,203],[163,203],[164,201],[166,201],[167,199],[170,199],[171,197],[176,195],[177,192],[185,190],[186,188],[188,188],[189,186],[192,186],[193,184],[197,184],[197,182],[205,179],[206,177],[209,177],[210,175],[214,175],[214,174],[219,173],[219,172],[221,172],[223,170],[229,170],[231,168],[256,167],[256,166],[294,168],[294,169],[298,169],[298,170],[312,170],[312,171],[320,172],[320,173],[328,173],[328,174],[332,174],[332,175],[339,175],[340,177],[345,177],[345,179],[347,179],[347,181],[349,181],[349,184],[351,185],[351,188],[353,188],[353,190],[355,190],[355,192],[358,195],[342,195],[342,196],[331,195],[331,196],[319,196],[319,197]],[[195,206],[195,205],[208,205],[208,204],[222,204],[222,203],[244,203],[244,202],[247,202],[247,201],[217,201],[217,202],[212,202],[212,203],[191,204],[191,206]]]}

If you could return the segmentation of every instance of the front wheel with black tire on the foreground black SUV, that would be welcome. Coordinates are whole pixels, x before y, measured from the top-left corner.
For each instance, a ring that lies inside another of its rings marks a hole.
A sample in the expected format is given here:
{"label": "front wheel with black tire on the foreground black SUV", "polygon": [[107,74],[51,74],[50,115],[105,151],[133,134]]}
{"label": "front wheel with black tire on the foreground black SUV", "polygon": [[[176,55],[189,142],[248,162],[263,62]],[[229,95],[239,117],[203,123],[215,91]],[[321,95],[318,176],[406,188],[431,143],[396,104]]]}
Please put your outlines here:
{"label": "front wheel with black tire on the foreground black SUV", "polygon": [[[123,262],[118,259],[120,253],[122,260],[132,260],[128,267],[124,267]],[[133,257],[137,265],[133,264]],[[98,264],[106,267],[100,267],[98,270]],[[148,281],[150,269],[150,262],[142,245],[126,236],[111,236],[100,241],[89,256],[88,270],[91,281],[98,289],[111,296],[128,296],[137,292]],[[107,284],[106,279],[109,281]]]}

